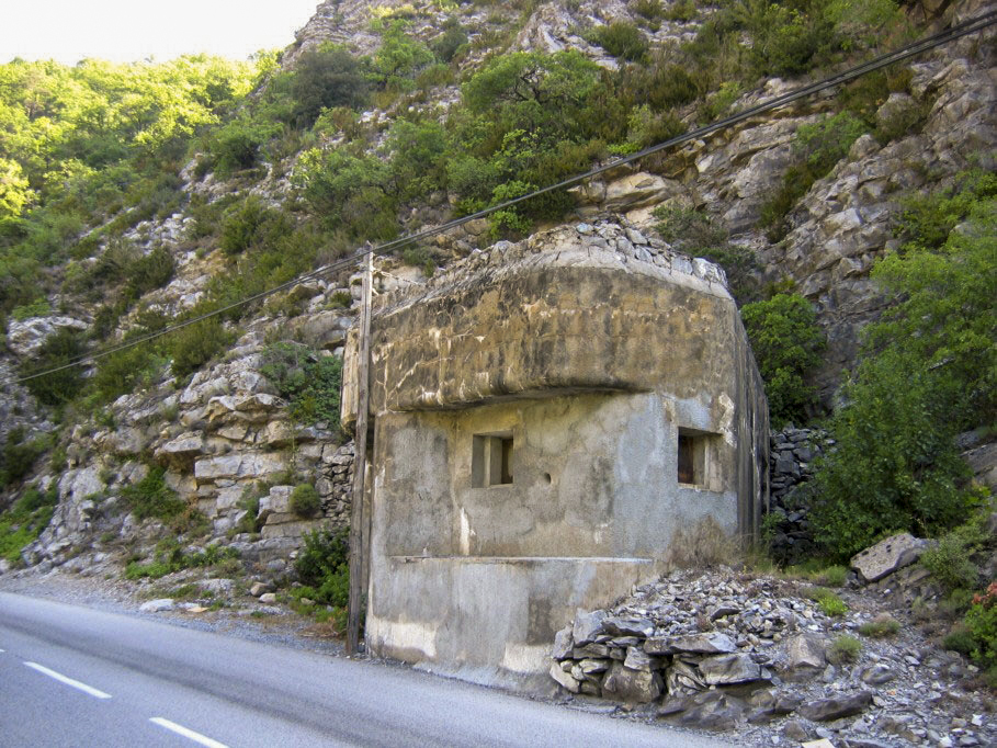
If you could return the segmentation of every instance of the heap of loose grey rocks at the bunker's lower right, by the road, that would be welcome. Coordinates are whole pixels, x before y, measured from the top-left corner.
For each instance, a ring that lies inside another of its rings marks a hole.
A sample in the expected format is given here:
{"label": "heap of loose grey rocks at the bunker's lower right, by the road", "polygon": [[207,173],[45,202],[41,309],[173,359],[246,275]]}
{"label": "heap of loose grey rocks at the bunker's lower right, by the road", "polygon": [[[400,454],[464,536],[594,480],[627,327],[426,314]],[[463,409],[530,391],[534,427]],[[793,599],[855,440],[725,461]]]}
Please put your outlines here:
{"label": "heap of loose grey rocks at the bunker's lower right, by the road", "polygon": [[[888,622],[873,596],[842,591],[850,610],[835,617],[809,587],[727,568],[672,573],[611,609],[579,610],[555,637],[551,676],[573,699],[645,704],[672,724],[737,729],[748,745],[997,743],[987,696],[953,688],[972,665],[909,626],[859,636],[876,615]],[[842,636],[861,644],[851,661]]]}

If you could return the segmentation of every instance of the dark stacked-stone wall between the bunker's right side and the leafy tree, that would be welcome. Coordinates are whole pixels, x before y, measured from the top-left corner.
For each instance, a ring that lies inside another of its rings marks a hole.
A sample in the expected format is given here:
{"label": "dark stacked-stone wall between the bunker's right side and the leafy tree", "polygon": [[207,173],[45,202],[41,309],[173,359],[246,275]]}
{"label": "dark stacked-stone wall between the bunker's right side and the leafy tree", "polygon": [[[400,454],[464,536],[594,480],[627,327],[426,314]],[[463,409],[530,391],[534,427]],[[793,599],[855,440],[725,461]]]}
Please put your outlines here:
{"label": "dark stacked-stone wall between the bunker's right side and the leafy tree", "polygon": [[807,499],[803,487],[814,475],[814,460],[835,444],[819,429],[788,426],[771,437],[769,475],[771,509],[777,518],[772,554],[780,562],[794,563],[812,555],[814,533],[807,519]]}

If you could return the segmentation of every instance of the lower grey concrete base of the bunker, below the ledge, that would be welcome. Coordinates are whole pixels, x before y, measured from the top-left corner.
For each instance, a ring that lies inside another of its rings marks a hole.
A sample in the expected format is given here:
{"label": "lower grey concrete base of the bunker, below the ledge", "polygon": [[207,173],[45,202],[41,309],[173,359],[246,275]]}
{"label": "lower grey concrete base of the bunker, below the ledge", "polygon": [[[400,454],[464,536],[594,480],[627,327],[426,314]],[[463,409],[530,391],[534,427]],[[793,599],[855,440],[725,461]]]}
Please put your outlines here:
{"label": "lower grey concrete base of the bunker, below the ledge", "polygon": [[661,570],[641,558],[379,558],[364,635],[372,651],[434,672],[550,690],[556,628]]}

